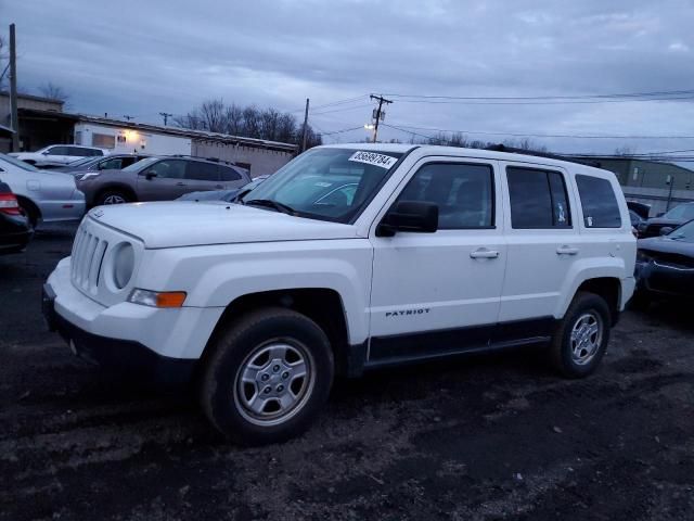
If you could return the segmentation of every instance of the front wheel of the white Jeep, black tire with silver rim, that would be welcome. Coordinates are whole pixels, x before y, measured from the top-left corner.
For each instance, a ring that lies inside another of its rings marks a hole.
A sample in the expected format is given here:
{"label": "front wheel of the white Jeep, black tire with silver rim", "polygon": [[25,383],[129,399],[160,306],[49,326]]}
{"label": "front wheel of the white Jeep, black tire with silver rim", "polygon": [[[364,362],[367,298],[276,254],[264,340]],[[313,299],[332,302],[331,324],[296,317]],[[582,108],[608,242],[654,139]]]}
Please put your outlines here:
{"label": "front wheel of the white Jeep, black tire with silver rim", "polygon": [[[264,366],[265,352],[274,353],[273,350],[279,348],[275,346],[281,345],[288,347],[287,355],[272,358],[273,355],[268,354]],[[310,425],[330,395],[334,377],[330,341],[316,322],[299,313],[281,307],[249,313],[232,322],[210,347],[213,351],[205,356],[202,368],[201,405],[217,430],[231,441],[262,445],[294,437]],[[288,360],[290,353],[304,356],[308,368],[304,380],[285,376],[288,374],[285,369],[292,367],[284,361]],[[278,371],[280,364],[282,368]],[[250,369],[255,367],[262,369]],[[256,371],[252,383],[243,380],[248,374],[244,371],[246,368]],[[284,382],[290,383],[281,394]],[[267,392],[271,394],[266,398]],[[295,394],[301,397],[296,398]],[[296,402],[282,411],[280,397]],[[260,411],[252,410],[249,402],[255,404],[256,399],[265,404]],[[280,410],[272,411],[275,407]]]}

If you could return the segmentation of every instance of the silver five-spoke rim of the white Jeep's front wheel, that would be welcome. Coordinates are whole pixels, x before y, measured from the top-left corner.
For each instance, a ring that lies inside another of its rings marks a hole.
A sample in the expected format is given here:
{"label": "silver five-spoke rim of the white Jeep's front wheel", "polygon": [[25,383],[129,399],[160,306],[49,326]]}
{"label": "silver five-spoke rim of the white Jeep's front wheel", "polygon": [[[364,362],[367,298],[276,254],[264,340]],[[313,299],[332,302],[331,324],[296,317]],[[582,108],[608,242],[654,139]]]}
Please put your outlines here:
{"label": "silver five-spoke rim of the white Jeep's front wheel", "polygon": [[258,425],[294,417],[313,389],[314,363],[304,344],[288,339],[266,342],[245,358],[234,382],[239,412]]}

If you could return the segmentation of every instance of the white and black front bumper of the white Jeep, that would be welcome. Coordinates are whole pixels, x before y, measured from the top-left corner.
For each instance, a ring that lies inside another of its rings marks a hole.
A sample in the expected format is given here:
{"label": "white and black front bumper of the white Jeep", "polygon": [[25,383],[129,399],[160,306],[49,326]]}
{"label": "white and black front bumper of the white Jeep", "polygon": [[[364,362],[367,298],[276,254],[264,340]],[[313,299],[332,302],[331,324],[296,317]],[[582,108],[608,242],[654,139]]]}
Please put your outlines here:
{"label": "white and black front bumper of the white Jeep", "polygon": [[44,284],[42,308],[49,328],[75,354],[159,382],[191,377],[223,308],[106,307],[73,285],[69,260],[61,260]]}

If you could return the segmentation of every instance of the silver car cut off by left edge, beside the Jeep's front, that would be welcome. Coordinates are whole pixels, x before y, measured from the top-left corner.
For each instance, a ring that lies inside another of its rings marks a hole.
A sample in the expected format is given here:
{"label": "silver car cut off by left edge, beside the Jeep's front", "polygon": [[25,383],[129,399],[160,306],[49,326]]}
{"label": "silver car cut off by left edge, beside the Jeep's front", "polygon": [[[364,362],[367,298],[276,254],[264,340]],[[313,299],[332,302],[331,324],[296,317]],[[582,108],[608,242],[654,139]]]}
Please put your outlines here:
{"label": "silver car cut off by left edge, beside the Jeep's front", "polygon": [[40,223],[77,220],[85,215],[85,194],[69,174],[39,170],[0,154],[0,175],[36,227]]}

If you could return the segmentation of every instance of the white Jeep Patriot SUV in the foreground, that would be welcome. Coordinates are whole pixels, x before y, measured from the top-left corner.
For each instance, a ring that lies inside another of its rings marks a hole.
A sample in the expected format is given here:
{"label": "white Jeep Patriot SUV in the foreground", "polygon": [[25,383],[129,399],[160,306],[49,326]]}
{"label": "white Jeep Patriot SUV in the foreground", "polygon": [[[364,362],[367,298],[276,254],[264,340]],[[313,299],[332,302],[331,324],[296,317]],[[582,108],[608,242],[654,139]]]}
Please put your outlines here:
{"label": "white Jeep Patriot SUV in the foreground", "polygon": [[92,209],[43,309],[78,355],[192,379],[219,431],[259,444],[306,429],[335,374],[529,344],[562,374],[590,374],[634,259],[609,171],[331,145],[239,203]]}

